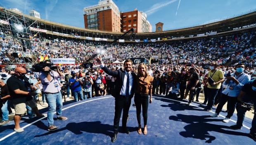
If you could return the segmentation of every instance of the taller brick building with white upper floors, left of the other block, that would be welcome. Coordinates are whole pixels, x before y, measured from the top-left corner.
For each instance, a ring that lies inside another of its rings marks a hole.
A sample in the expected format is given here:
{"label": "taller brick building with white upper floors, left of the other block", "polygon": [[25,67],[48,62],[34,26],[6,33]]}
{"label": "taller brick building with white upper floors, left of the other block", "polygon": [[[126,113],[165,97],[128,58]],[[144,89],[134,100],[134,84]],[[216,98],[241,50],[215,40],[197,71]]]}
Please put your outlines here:
{"label": "taller brick building with white upper floors, left of the other block", "polygon": [[120,12],[112,0],[99,1],[83,10],[86,29],[121,32]]}

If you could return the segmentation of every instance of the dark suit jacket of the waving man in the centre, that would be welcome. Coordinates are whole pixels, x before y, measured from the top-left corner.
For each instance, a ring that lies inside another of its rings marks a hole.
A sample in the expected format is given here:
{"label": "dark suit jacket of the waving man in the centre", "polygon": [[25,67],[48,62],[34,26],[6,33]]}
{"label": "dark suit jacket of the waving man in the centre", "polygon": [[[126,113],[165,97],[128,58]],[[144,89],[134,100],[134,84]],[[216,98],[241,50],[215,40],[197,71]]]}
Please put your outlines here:
{"label": "dark suit jacket of the waving man in the centre", "polygon": [[[118,71],[112,71],[109,70],[106,66],[104,66],[102,68],[103,71],[105,71],[105,73],[107,73],[110,76],[113,76],[116,78],[116,87],[115,89],[112,91],[112,96],[113,97],[119,97],[120,96],[120,91],[122,89],[123,86],[123,80],[124,80],[124,76],[126,74],[125,71],[121,71],[120,69]],[[136,79],[136,74],[135,73],[131,73],[133,76],[133,85],[132,85],[132,92],[130,94],[130,99],[133,97],[134,93],[135,93],[135,79]]]}

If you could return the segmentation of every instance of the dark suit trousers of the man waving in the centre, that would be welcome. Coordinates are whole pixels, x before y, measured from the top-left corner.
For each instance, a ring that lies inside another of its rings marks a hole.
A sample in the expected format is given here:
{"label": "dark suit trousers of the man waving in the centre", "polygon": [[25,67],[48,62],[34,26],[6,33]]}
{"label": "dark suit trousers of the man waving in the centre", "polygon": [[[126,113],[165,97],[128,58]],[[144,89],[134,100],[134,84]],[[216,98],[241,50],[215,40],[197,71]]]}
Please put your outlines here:
{"label": "dark suit trousers of the man waving in the centre", "polygon": [[119,122],[123,110],[122,127],[126,128],[128,112],[130,108],[131,97],[116,97],[115,98],[115,117],[114,117],[114,133],[118,133]]}

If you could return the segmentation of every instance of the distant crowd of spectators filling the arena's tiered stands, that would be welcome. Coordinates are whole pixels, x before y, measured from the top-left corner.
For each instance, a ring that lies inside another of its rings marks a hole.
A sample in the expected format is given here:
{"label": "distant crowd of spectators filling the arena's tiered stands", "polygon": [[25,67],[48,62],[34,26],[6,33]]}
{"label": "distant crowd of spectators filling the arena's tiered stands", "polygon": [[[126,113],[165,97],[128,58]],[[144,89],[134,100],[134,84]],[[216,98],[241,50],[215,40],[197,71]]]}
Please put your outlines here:
{"label": "distant crowd of spectators filling the arena's tiered stands", "polygon": [[[10,59],[5,51],[22,51],[21,42],[5,37],[0,37],[1,61],[7,63]],[[255,53],[255,31],[244,32],[242,34],[232,34],[218,36],[214,38],[201,38],[193,40],[180,40],[171,43],[153,44],[113,44],[108,46],[106,42],[92,42],[82,40],[45,38],[31,39],[31,49],[40,59],[40,56],[47,55],[48,58],[74,58],[76,63],[83,63],[97,48],[106,48],[103,57],[105,63],[113,63],[116,60],[122,62],[128,58],[146,58],[149,62],[152,56],[157,56],[158,60],[164,64],[209,64],[211,60],[220,65],[232,63],[244,63],[246,65],[256,65]],[[45,42],[45,43],[43,43]],[[51,48],[57,47],[59,50],[53,51]],[[196,50],[197,49],[197,50]],[[162,56],[164,55],[164,56]],[[22,61],[22,60],[21,60]],[[94,61],[96,63],[96,61]]]}

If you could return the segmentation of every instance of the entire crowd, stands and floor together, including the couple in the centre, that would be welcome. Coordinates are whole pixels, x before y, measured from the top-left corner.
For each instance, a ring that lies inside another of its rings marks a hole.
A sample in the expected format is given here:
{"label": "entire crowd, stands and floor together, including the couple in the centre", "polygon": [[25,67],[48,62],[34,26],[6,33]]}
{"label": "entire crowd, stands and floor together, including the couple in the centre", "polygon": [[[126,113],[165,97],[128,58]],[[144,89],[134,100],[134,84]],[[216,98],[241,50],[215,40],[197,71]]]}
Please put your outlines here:
{"label": "entire crowd, stands and floor together, including the couple in the centre", "polygon": [[[55,111],[58,120],[68,119],[62,115],[62,98],[65,95],[67,99],[73,97],[74,101],[80,101],[111,94],[122,98],[116,99],[116,105],[121,106],[115,108],[114,135],[111,138],[114,142],[117,138],[121,108],[124,108],[123,129],[129,133],[124,120],[128,117],[130,99],[133,96],[137,110],[137,132],[147,134],[147,107],[148,103],[152,103],[152,95],[165,95],[191,105],[193,101],[199,102],[200,93],[203,92],[204,95],[201,96],[204,96],[204,102],[201,103],[207,104],[204,110],[211,111],[213,106],[217,107],[211,117],[218,117],[224,104],[228,102],[228,113],[223,122],[229,122],[237,109],[237,124],[230,128],[241,129],[247,111],[247,108],[242,108],[244,102],[252,102],[254,105],[256,102],[255,39],[255,32],[246,32],[212,39],[176,41],[172,44],[115,44],[107,47],[102,58],[93,60],[91,68],[74,64],[58,66],[55,71],[44,67],[40,72],[34,72],[32,68],[16,67],[8,70],[2,67],[0,125],[9,122],[11,108],[15,110],[16,132],[24,131],[19,126],[19,120],[25,112],[29,118],[43,117],[36,105],[40,94],[43,104],[48,104],[47,130],[55,131],[58,129],[53,120]],[[10,40],[5,38],[0,41],[2,62],[9,61],[2,55],[5,51],[10,48],[22,49],[18,42]],[[45,64],[50,63],[51,58],[75,58],[76,62],[83,63],[96,48],[105,46],[101,43],[71,40],[52,40],[43,45],[40,41],[43,40],[34,41],[29,51],[37,53],[38,56],[47,55],[49,60],[44,60]],[[51,51],[52,46],[59,47],[59,51]],[[149,62],[152,55],[159,57],[159,63]],[[161,59],[161,55],[165,55],[165,58]],[[147,58],[147,64],[133,64],[128,58]],[[115,60],[126,61],[124,64],[112,64]],[[230,65],[224,65],[227,63]],[[204,64],[209,64],[209,67],[204,67]],[[141,106],[143,131],[140,123]],[[254,140],[255,125],[256,117],[250,131]]]}

